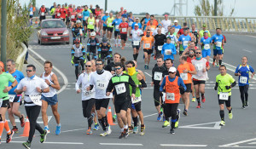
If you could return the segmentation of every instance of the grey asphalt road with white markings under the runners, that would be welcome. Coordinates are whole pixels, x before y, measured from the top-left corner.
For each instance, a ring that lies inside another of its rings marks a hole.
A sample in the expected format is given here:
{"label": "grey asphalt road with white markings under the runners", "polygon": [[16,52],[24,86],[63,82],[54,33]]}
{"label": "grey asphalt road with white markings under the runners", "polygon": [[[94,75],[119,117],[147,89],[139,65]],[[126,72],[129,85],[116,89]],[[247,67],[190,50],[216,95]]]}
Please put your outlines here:
{"label": "grey asphalt road with white markings under the runners", "polygon": [[[224,48],[224,63],[229,64],[228,73],[235,77],[234,66],[241,62],[241,56],[248,57],[249,64],[255,66],[255,37],[245,35],[226,35],[228,43]],[[101,38],[101,37],[100,37]],[[93,131],[93,135],[86,135],[87,119],[83,117],[81,98],[74,89],[75,75],[74,66],[71,65],[70,48],[72,45],[55,44],[55,45],[38,45],[37,37],[33,35],[30,42],[30,48],[45,60],[51,60],[56,68],[58,68],[67,77],[67,88],[59,95],[59,112],[61,114],[61,135],[55,135],[55,118],[49,120],[49,129],[51,133],[48,135],[44,144],[39,143],[38,132],[33,138],[32,148],[225,148],[225,147],[256,147],[256,118],[254,117],[256,101],[253,100],[256,93],[256,82],[252,80],[249,89],[250,106],[242,110],[241,100],[238,86],[232,89],[233,119],[228,118],[228,112],[225,110],[224,127],[219,127],[219,107],[217,100],[217,92],[213,89],[215,77],[218,75],[218,68],[211,68],[209,71],[209,80],[206,84],[206,102],[202,104],[201,109],[196,109],[196,102],[190,102],[189,116],[181,115],[179,128],[175,130],[175,135],[169,133],[170,128],[162,129],[163,122],[156,121],[156,110],[154,108],[153,88],[150,86],[151,70],[155,64],[155,60],[151,60],[149,70],[143,69],[143,52],[140,51],[138,56],[138,69],[145,72],[148,89],[143,89],[143,115],[146,125],[145,135],[129,135],[128,138],[119,140],[120,129],[117,125],[112,126],[113,133],[106,137],[99,136],[102,129]],[[113,41],[112,41],[113,43]],[[132,60],[131,42],[128,41],[124,50],[113,48],[113,53],[118,52],[125,55],[126,60]],[[32,51],[30,54],[40,61],[38,56]],[[176,56],[175,66],[178,65]],[[42,60],[41,60],[42,62]],[[212,65],[211,65],[212,66]],[[55,71],[55,70],[54,70]],[[56,73],[61,77],[59,73]],[[237,77],[235,77],[237,80]],[[61,86],[64,85],[64,79],[60,79]],[[254,89],[253,89],[254,88]],[[191,100],[191,96],[190,96]],[[113,104],[110,102],[109,106]],[[183,104],[179,105],[183,110]],[[24,106],[20,107],[21,112]],[[50,108],[48,115],[52,116]],[[42,121],[42,119],[38,119]],[[19,123],[18,123],[19,125]],[[43,124],[41,124],[43,126]],[[21,133],[22,129],[20,129]],[[1,148],[22,148],[21,142],[27,138],[19,137],[20,134],[14,136],[13,142],[10,144],[3,143]],[[3,138],[4,139],[4,138]],[[244,140],[244,141],[242,141]]]}

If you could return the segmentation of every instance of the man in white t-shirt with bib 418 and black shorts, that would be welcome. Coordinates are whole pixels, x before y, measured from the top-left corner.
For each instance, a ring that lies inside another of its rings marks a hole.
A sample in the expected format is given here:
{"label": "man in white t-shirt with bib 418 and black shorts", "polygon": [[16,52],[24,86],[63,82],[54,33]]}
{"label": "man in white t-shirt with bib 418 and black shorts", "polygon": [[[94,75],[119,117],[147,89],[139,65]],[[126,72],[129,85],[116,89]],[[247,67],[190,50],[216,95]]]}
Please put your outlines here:
{"label": "man in white t-shirt with bib 418 and black shorts", "polygon": [[112,77],[112,74],[108,71],[104,71],[102,60],[96,60],[96,72],[90,76],[90,87],[87,87],[87,91],[95,88],[96,90],[96,112],[98,116],[98,121],[102,126],[103,133],[101,136],[107,136],[111,134],[110,124],[108,124],[108,118],[106,115],[106,110],[108,108],[108,103],[113,95],[106,95],[106,89],[108,87],[108,82]]}

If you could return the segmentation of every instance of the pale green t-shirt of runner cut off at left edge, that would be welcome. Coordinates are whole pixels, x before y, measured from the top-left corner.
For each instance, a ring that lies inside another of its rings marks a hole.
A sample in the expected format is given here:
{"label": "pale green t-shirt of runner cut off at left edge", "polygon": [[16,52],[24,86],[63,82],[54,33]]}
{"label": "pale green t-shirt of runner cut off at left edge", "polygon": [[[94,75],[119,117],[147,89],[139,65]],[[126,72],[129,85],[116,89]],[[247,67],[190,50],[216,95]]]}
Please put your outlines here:
{"label": "pale green t-shirt of runner cut off at left edge", "polygon": [[13,77],[9,73],[3,72],[0,75],[0,99],[9,100],[8,92],[3,93],[3,89],[5,89],[6,86],[9,86],[9,82],[11,83],[15,82],[15,77]]}

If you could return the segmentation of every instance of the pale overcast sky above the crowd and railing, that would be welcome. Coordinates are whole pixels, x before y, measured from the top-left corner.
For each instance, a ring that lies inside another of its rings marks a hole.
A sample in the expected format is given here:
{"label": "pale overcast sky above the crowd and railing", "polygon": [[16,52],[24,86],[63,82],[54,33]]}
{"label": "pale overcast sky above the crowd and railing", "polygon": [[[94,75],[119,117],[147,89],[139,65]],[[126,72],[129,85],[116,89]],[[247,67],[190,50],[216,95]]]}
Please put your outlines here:
{"label": "pale overcast sky above the crowd and railing", "polygon": [[[21,5],[28,3],[29,0],[19,0]],[[142,12],[148,12],[149,14],[164,14],[168,12],[171,14],[174,2],[178,3],[183,1],[184,3],[188,1],[188,15],[186,13],[186,6],[183,6],[183,16],[195,16],[194,8],[195,5],[199,3],[199,0],[108,0],[108,11],[114,10],[119,11],[120,7],[124,7],[128,12],[133,12],[133,14],[139,14]],[[47,8],[55,3],[73,3],[78,5],[95,5],[98,4],[101,8],[105,8],[105,0],[37,0],[37,7],[44,4]],[[213,3],[214,0],[210,0]],[[255,0],[223,0],[224,2],[224,15],[228,16],[230,14],[231,8],[235,7],[235,13],[233,16],[236,17],[255,17],[252,10],[255,8]],[[251,11],[250,11],[251,10]],[[172,11],[172,14],[173,11]],[[177,15],[177,12],[176,12]]]}

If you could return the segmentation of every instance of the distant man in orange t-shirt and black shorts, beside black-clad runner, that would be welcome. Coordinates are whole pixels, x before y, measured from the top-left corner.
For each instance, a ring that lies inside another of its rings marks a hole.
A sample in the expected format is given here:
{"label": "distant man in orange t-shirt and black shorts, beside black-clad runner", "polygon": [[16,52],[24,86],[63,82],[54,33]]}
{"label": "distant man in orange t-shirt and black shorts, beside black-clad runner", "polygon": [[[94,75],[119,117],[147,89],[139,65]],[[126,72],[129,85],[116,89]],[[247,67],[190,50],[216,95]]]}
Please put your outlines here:
{"label": "distant man in orange t-shirt and black shorts, beside black-clad runner", "polygon": [[143,52],[144,52],[144,62],[145,66],[144,69],[149,69],[148,65],[150,62],[150,54],[153,53],[153,44],[154,44],[154,37],[150,36],[150,30],[147,30],[147,34],[142,37],[141,42],[143,42]]}

